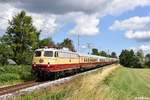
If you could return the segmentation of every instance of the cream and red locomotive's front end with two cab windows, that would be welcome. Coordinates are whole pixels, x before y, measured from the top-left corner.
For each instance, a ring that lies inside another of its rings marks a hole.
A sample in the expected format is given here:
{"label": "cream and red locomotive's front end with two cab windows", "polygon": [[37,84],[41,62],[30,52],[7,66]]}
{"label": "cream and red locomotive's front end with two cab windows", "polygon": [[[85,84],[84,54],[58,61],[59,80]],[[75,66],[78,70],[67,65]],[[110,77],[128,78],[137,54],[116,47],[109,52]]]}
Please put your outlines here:
{"label": "cream and red locomotive's front end with two cab windows", "polygon": [[51,64],[54,64],[54,51],[52,49],[35,50],[32,61],[32,72],[37,77],[42,77],[51,71]]}

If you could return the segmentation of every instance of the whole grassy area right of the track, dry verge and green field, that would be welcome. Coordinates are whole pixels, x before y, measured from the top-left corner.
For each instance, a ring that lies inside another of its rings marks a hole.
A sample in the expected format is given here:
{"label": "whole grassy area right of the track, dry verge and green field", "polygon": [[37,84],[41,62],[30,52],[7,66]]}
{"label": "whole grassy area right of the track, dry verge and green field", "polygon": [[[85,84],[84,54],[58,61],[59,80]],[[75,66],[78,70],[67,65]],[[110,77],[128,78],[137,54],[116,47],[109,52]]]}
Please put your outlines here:
{"label": "whole grassy area right of the track, dry verge and green field", "polygon": [[[118,65],[117,65],[118,66]],[[120,65],[119,65],[120,66]],[[133,100],[150,98],[150,69],[101,70],[19,97],[21,100]]]}

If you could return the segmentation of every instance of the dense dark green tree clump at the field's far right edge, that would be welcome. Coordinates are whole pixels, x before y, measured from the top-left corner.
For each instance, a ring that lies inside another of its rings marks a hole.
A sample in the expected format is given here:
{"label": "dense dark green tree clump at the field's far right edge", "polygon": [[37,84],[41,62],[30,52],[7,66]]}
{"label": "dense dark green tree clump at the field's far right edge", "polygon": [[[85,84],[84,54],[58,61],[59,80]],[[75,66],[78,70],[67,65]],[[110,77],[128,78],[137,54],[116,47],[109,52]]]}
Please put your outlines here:
{"label": "dense dark green tree clump at the field's far right edge", "polygon": [[133,50],[122,50],[119,56],[120,64],[131,68],[150,67],[150,54],[144,53],[142,50],[134,52]]}

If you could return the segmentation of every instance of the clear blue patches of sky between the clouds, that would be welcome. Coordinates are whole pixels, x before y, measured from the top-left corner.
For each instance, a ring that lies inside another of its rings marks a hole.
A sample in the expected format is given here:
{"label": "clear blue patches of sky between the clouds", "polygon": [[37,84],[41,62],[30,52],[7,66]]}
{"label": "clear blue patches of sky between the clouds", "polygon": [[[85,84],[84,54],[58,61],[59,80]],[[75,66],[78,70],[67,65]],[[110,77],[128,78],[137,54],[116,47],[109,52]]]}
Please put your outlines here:
{"label": "clear blue patches of sky between the clouds", "polygon": [[[96,47],[100,50],[115,51],[120,53],[122,49],[129,49],[130,47],[138,47],[141,45],[149,45],[149,41],[137,41],[134,39],[128,39],[125,37],[124,32],[122,31],[111,31],[109,27],[113,24],[115,20],[125,20],[134,16],[150,16],[150,6],[146,7],[137,7],[134,10],[122,13],[120,15],[106,15],[101,18],[101,23],[98,25],[101,33],[95,36],[81,36],[80,44],[85,45],[86,43],[91,43],[93,47]],[[71,38],[74,43],[77,44],[77,35],[66,34],[73,25],[67,25],[60,32],[53,35],[53,39],[57,42],[61,42],[64,37]],[[75,45],[76,45],[75,44]],[[82,49],[82,48],[81,48]],[[82,51],[87,52],[85,48]]]}

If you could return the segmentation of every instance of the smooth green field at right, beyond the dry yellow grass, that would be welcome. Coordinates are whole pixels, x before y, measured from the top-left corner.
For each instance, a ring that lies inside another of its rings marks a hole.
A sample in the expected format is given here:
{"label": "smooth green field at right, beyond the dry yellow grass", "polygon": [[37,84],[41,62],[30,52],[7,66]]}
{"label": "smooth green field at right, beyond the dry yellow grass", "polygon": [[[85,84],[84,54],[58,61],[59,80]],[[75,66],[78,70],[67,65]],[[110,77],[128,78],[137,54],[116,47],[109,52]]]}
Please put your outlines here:
{"label": "smooth green field at right, beyond the dry yellow grass", "polygon": [[133,100],[136,97],[150,98],[150,69],[122,67],[116,73],[107,77],[103,81],[103,85],[109,88],[108,93],[112,96],[112,99]]}

